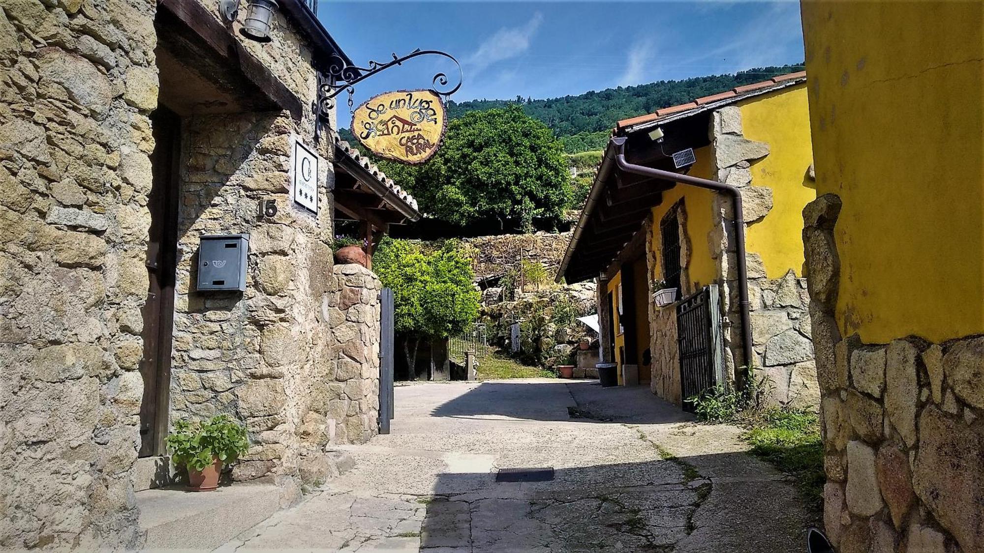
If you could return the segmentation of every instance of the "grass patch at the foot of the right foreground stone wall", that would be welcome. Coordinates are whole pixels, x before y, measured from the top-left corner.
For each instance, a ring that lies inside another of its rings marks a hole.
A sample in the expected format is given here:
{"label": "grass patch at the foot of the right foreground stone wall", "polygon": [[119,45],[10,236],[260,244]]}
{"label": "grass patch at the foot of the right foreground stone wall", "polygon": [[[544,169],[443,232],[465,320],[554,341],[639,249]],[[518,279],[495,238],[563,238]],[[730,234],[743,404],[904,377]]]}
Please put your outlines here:
{"label": "grass patch at the foot of the right foreground stone wall", "polygon": [[824,443],[820,420],[810,411],[770,407],[742,413],[736,420],[749,430],[742,438],[751,453],[796,478],[796,486],[811,507],[821,508],[824,496]]}

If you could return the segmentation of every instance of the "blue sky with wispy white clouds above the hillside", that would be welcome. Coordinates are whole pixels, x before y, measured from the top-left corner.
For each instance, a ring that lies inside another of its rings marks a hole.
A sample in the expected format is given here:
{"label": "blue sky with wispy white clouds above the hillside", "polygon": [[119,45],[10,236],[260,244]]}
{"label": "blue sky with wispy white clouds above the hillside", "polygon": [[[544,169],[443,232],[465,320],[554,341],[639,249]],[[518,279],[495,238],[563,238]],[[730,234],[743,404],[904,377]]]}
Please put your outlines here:
{"label": "blue sky with wispy white clouds above the hillside", "polygon": [[[803,61],[797,2],[320,0],[318,14],[356,64],[418,47],[456,56],[464,72],[458,101],[555,97]],[[355,104],[429,88],[434,72],[448,67],[416,58],[361,83]]]}

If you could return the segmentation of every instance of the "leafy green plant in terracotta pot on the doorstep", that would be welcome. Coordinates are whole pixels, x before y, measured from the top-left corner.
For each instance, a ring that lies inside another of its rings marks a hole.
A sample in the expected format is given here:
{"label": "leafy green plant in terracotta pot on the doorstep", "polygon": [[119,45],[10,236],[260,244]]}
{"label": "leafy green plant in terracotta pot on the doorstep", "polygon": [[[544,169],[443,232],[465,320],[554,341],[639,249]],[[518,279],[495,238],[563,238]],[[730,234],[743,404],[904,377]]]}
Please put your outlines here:
{"label": "leafy green plant in terracotta pot on the doorstep", "polygon": [[177,420],[167,435],[167,450],[178,466],[188,468],[188,482],[196,492],[218,487],[222,463],[230,463],[249,450],[246,427],[229,415],[215,415],[208,421]]}

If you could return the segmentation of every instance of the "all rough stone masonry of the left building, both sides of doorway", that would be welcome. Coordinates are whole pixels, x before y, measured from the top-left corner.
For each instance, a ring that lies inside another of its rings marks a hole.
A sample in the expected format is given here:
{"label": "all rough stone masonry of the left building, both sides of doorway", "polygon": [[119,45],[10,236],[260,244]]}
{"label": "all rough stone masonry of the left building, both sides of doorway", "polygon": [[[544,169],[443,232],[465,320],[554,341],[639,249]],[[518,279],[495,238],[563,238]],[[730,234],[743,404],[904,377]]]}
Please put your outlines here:
{"label": "all rough stone masonry of the left building, both sides of doorway", "polygon": [[[202,6],[217,20],[216,2]],[[0,547],[140,546],[157,7],[0,6]],[[241,43],[302,100],[299,119],[182,120],[170,405],[171,420],[246,422],[253,447],[233,476],[272,473],[287,499],[330,474],[326,444],[375,431],[379,332],[379,281],[332,265],[328,188],[321,215],[287,208],[289,148],[312,143],[316,86],[291,26],[277,14],[271,44]],[[330,141],[319,154],[331,183]],[[276,217],[258,220],[260,198]],[[205,233],[250,235],[245,293],[194,289]]]}

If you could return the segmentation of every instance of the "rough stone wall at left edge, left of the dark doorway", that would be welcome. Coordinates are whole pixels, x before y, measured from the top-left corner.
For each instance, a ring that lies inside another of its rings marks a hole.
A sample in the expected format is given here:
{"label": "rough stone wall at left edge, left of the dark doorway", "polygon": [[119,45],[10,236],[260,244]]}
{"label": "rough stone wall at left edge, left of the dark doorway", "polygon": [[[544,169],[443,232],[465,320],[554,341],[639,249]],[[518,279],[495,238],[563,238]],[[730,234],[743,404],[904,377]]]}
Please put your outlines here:
{"label": "rough stone wall at left edge, left of the dark doorway", "polygon": [[0,547],[137,544],[153,22],[0,7]]}

